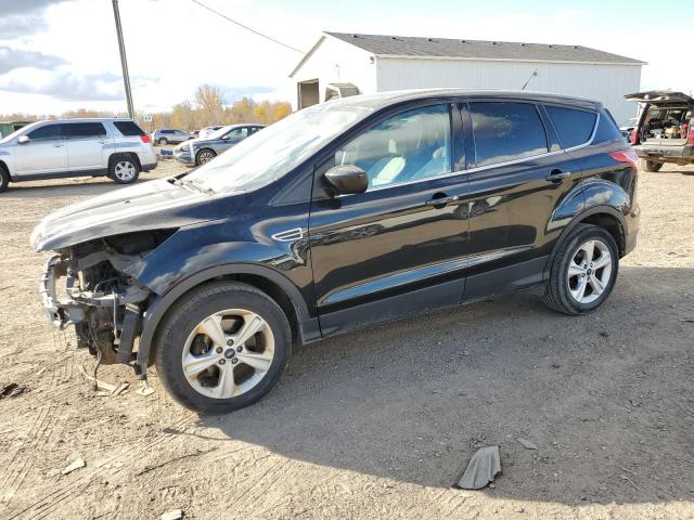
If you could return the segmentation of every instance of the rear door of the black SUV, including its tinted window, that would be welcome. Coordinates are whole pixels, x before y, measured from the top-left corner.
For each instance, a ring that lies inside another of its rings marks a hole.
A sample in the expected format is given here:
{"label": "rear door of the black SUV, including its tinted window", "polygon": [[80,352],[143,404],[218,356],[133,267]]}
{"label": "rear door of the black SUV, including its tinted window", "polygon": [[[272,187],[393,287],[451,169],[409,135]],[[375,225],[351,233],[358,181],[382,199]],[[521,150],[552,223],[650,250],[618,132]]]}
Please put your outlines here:
{"label": "rear door of the black SUV, including its tinted window", "polygon": [[474,157],[465,298],[475,299],[540,282],[561,232],[550,220],[565,198],[581,206],[583,199],[581,171],[561,148],[541,106],[480,100],[461,109]]}

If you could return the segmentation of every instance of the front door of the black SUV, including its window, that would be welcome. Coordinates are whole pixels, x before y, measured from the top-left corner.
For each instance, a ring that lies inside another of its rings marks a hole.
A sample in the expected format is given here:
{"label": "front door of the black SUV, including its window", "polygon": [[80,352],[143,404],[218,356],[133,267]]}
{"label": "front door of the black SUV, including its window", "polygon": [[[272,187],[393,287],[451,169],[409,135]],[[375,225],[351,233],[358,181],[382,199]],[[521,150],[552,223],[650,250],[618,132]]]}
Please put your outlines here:
{"label": "front door of the black SUV, including its window", "polygon": [[[451,105],[402,109],[317,166],[309,240],[323,335],[460,302],[468,226],[461,139]],[[368,191],[330,196],[323,174],[336,165],[367,171]]]}

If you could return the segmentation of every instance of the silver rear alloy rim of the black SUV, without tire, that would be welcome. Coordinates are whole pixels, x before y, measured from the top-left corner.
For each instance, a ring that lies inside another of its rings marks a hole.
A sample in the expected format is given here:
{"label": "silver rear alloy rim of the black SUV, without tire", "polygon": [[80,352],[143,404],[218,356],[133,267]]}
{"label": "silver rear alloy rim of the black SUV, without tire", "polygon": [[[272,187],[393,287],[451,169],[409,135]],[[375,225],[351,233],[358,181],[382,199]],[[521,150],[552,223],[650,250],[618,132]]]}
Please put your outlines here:
{"label": "silver rear alloy rim of the black SUV, without tire", "polygon": [[588,240],[571,256],[568,290],[579,303],[591,303],[605,291],[612,277],[612,255],[602,240]]}

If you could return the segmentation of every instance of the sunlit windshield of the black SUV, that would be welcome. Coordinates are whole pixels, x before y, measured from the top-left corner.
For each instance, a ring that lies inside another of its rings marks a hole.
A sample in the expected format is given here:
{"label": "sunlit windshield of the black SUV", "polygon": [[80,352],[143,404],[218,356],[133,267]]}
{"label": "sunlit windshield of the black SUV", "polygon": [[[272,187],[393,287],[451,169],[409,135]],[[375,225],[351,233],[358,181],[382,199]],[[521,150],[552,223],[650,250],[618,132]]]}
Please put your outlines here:
{"label": "sunlit windshield of the black SUV", "polygon": [[187,178],[215,192],[249,191],[279,179],[371,113],[326,103],[304,108],[241,141]]}

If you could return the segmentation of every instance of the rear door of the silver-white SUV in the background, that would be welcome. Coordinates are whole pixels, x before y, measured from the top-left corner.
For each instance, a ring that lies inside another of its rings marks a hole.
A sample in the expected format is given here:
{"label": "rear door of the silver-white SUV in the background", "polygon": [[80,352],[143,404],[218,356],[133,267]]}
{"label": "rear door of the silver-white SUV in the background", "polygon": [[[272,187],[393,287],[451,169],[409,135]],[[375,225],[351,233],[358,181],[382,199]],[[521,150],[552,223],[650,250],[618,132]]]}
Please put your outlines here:
{"label": "rear door of the silver-white SUV in the background", "polygon": [[100,121],[65,123],[67,162],[70,173],[105,169],[114,138]]}

